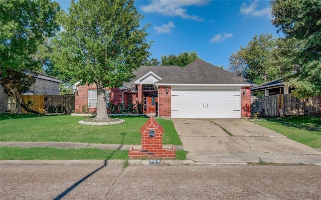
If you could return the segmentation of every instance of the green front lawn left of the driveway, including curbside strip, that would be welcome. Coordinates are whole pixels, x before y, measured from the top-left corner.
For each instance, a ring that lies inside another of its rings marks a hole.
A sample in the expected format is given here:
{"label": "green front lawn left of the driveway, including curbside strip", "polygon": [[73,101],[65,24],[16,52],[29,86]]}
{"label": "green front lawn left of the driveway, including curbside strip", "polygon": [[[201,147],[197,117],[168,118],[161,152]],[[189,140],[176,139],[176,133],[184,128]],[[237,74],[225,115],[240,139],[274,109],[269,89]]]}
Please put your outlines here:
{"label": "green front lawn left of the driveway, including curbside strip", "polygon": [[[39,116],[1,114],[0,141],[13,142],[82,142],[95,144],[140,144],[145,117],[118,117],[125,123],[109,126],[82,125],[85,117],[70,115]],[[171,120],[156,119],[164,128],[164,144],[182,145]],[[177,151],[177,159],[186,159],[186,151]],[[128,151],[102,149],[57,149],[0,147],[0,159],[128,159]]]}

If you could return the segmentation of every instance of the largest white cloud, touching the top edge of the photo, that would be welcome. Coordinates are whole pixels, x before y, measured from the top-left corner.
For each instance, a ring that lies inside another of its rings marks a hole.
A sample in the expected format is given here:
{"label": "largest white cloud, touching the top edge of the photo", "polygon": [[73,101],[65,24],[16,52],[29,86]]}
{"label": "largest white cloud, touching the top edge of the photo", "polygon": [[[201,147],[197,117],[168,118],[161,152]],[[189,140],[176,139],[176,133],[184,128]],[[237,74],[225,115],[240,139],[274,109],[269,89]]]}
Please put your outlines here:
{"label": "largest white cloud, touching the top edge of the photo", "polygon": [[145,13],[158,13],[164,16],[171,16],[171,17],[181,17],[187,20],[194,20],[194,21],[203,21],[204,19],[195,16],[189,15],[187,13],[187,9],[184,7],[189,6],[203,6],[208,4],[208,1],[171,1],[171,0],[153,0],[147,6],[141,6],[140,9]]}

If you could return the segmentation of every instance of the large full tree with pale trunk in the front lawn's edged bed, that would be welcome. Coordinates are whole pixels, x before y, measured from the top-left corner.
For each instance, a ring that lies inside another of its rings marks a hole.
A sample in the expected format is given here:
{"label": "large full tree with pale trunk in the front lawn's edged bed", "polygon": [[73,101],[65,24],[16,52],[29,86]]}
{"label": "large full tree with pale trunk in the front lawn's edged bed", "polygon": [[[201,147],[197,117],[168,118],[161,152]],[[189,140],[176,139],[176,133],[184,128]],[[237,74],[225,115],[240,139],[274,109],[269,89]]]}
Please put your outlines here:
{"label": "large full tree with pale trunk in the front lawn's edged bed", "polygon": [[134,78],[148,58],[150,43],[140,29],[143,18],[133,0],[72,1],[62,16],[62,31],[52,40],[53,62],[82,84],[97,85],[95,120],[109,121],[106,110],[106,87],[120,87]]}

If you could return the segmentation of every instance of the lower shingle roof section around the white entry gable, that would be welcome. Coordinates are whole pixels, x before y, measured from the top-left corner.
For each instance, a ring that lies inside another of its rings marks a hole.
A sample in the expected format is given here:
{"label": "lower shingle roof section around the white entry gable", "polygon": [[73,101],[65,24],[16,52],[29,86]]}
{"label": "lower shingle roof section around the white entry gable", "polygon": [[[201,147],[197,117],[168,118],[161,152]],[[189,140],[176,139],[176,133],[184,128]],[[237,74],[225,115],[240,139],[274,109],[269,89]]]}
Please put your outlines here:
{"label": "lower shingle roof section around the white entry gable", "polygon": [[147,74],[148,72],[152,72],[156,74],[157,76],[164,78],[168,75],[182,69],[180,66],[141,66],[139,67],[138,71],[135,71],[134,74],[136,75],[136,78],[131,80],[128,83],[124,83],[123,85],[126,88],[133,89],[134,82]]}

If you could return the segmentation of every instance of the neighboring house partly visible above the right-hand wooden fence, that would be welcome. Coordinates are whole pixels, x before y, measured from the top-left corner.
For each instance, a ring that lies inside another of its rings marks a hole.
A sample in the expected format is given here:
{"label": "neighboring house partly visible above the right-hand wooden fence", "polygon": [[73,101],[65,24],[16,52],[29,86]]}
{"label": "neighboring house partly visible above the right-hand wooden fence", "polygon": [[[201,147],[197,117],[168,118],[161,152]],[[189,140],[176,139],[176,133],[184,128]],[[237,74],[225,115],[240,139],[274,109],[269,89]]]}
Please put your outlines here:
{"label": "neighboring house partly visible above the right-hand wooden fence", "polygon": [[253,95],[262,94],[264,96],[276,95],[276,94],[290,94],[291,88],[286,86],[284,78],[275,79],[269,82],[262,83],[260,85],[252,86],[251,91]]}

